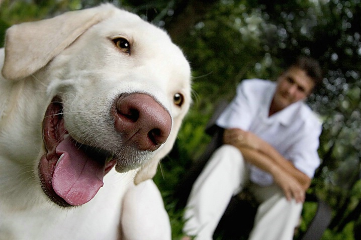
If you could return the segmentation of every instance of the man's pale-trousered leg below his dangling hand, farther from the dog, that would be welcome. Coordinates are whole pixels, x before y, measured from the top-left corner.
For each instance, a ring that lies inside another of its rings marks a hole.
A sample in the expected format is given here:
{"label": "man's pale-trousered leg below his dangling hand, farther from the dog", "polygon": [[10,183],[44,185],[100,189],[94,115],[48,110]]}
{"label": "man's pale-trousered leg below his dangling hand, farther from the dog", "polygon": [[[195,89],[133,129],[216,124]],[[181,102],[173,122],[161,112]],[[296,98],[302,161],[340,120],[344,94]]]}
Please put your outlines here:
{"label": "man's pale-trousered leg below his dangling hand, farther from the dog", "polygon": [[257,187],[252,184],[250,191],[262,203],[248,240],[292,240],[303,204],[294,199],[288,201],[276,185]]}

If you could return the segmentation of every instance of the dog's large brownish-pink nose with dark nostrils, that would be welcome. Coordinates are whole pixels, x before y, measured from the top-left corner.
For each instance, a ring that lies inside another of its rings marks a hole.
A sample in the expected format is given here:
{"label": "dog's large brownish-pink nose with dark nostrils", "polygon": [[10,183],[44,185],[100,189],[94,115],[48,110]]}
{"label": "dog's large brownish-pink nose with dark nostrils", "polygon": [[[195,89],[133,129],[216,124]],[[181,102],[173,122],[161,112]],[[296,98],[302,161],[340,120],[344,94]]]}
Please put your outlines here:
{"label": "dog's large brownish-pink nose with dark nostrils", "polygon": [[142,151],[154,151],[168,138],[169,112],[144,93],[122,94],[116,102],[115,128],[128,144]]}

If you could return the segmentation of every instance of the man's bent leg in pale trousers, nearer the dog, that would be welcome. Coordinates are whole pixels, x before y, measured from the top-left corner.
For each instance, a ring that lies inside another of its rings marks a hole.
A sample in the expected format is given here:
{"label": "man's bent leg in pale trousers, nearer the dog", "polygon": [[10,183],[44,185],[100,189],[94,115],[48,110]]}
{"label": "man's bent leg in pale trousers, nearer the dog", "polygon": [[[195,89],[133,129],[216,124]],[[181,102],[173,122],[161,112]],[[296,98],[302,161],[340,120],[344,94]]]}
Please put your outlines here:
{"label": "man's bent leg in pale trousers, nearer the dog", "polygon": [[193,185],[188,199],[183,228],[197,240],[212,239],[231,197],[248,179],[241,152],[231,146],[218,148]]}

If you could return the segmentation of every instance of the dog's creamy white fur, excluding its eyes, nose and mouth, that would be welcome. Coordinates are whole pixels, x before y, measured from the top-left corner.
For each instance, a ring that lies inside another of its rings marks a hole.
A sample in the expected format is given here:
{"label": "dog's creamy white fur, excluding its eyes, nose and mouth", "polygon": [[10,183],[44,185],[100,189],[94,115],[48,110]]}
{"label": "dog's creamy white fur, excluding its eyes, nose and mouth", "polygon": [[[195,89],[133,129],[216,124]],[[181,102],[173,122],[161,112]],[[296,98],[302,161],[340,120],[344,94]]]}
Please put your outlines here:
{"label": "dog's creamy white fur, excluding its eyes, nose and mouth", "polygon": [[[191,102],[183,53],[164,31],[111,5],[45,21],[11,28],[6,51],[0,50],[0,239],[170,239],[168,217],[150,178]],[[130,42],[130,55],[110,40],[120,36]],[[82,206],[51,202],[40,188],[38,165],[45,153],[42,121],[52,98],[61,96],[65,126],[74,138],[121,148],[107,120],[112,99],[132,92],[149,94],[170,113],[167,141],[146,153],[138,168],[124,173],[113,168]],[[185,97],[181,107],[173,103],[178,92]]]}

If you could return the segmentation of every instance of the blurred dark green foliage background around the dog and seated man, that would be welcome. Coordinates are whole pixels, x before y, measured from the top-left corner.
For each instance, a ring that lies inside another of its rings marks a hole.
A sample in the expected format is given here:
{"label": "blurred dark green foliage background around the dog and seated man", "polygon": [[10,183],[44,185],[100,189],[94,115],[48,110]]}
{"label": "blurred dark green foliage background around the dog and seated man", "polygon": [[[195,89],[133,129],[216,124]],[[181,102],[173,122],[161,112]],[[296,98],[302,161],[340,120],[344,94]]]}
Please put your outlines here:
{"label": "blurred dark green foliage background around the dog and seated man", "polygon": [[[13,24],[99,5],[98,0],[3,0],[0,47]],[[361,3],[360,0],[111,1],[164,28],[193,69],[193,105],[172,152],[158,168],[160,188],[179,239],[182,209],[174,191],[210,138],[204,133],[215,106],[231,100],[246,78],[276,80],[285,64],[304,54],[318,59],[322,87],[308,99],[321,117],[321,166],[310,192],[333,209],[322,239],[361,239]],[[305,205],[300,230],[315,206]]]}

